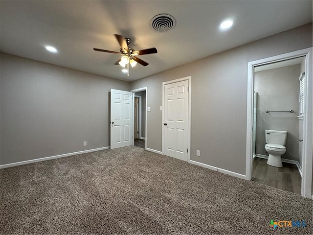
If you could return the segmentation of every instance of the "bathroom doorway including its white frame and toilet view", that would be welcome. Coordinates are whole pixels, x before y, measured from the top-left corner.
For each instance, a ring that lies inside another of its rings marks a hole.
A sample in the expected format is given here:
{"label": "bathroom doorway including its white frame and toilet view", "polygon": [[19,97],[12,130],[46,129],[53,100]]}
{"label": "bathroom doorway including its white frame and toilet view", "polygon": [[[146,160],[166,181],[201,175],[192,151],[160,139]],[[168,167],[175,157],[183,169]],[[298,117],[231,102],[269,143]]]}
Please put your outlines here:
{"label": "bathroom doorway including its white frame and toilet view", "polygon": [[246,179],[311,198],[310,61],[312,48],[249,63]]}

